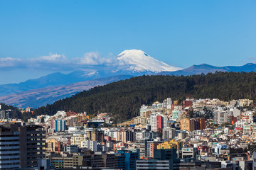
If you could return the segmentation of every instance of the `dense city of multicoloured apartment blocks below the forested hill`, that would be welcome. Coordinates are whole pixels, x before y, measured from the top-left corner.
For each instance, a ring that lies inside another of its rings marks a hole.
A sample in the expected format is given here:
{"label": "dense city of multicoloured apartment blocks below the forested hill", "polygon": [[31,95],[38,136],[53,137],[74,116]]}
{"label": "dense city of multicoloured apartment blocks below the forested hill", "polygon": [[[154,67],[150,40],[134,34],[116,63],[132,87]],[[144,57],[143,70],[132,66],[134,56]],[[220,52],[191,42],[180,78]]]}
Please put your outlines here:
{"label": "dense city of multicoloured apartment blocks below the forested hill", "polygon": [[108,113],[58,111],[24,122],[1,111],[1,169],[252,169],[252,106],[249,99],[166,98],[119,124]]}

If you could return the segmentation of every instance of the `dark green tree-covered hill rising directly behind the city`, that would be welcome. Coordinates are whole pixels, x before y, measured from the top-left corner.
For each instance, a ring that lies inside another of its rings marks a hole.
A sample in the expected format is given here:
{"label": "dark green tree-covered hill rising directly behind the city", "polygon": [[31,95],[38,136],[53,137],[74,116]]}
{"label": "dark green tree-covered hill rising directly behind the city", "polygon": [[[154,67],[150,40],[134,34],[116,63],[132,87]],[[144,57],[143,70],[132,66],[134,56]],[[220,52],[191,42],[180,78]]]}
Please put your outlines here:
{"label": "dark green tree-covered hill rising directly behind the city", "polygon": [[35,110],[36,115],[57,111],[112,113],[119,120],[133,118],[142,104],[171,97],[256,99],[256,73],[216,72],[193,76],[142,76],[97,86]]}

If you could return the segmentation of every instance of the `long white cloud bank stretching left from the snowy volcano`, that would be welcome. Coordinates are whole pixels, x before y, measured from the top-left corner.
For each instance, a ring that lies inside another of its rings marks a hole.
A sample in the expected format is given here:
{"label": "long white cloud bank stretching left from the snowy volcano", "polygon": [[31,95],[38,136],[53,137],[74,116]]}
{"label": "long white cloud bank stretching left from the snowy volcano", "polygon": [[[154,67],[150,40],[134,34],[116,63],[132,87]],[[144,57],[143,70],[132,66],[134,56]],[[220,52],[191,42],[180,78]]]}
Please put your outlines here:
{"label": "long white cloud bank stretching left from the snowy volcano", "polygon": [[54,71],[72,71],[94,66],[114,65],[113,56],[101,57],[99,52],[87,52],[82,57],[68,58],[65,55],[50,53],[34,58],[0,58],[0,69],[49,69]]}

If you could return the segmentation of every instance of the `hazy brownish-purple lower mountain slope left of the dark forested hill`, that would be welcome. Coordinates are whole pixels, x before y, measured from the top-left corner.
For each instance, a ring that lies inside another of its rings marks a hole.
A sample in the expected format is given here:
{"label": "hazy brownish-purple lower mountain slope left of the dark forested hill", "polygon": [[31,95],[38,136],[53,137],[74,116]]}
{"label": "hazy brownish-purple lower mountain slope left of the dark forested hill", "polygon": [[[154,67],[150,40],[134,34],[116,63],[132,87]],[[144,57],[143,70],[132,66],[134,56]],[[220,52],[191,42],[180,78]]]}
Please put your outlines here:
{"label": "hazy brownish-purple lower mountain slope left of the dark forested hill", "polygon": [[107,77],[102,79],[94,79],[88,81],[80,81],[74,84],[63,86],[52,86],[41,89],[33,89],[30,91],[23,91],[9,96],[1,96],[0,103],[6,103],[11,106],[25,108],[27,106],[37,108],[39,106],[46,106],[61,98],[70,97],[80,91],[91,89],[95,86],[102,86],[105,84],[119,81],[122,79],[129,79],[132,76],[119,75],[114,77]]}

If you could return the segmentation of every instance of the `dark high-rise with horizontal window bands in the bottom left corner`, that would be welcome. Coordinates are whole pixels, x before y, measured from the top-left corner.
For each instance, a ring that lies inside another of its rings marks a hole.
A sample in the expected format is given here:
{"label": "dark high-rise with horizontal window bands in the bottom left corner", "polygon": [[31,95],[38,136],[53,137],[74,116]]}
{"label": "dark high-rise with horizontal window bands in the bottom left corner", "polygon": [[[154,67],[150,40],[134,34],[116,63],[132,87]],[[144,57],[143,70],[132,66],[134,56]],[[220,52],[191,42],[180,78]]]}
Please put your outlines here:
{"label": "dark high-rise with horizontal window bands in the bottom left corner", "polygon": [[0,126],[0,169],[32,168],[45,157],[46,130],[39,125]]}

